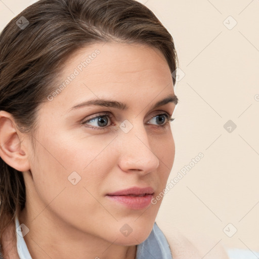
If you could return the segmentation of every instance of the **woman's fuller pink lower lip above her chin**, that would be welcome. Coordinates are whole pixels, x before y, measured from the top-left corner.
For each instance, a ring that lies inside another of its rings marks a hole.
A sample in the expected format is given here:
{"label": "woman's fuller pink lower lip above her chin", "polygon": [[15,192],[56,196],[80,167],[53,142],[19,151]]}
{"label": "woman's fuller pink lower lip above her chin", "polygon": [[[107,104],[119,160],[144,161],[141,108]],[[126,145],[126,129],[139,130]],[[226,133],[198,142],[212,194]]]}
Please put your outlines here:
{"label": "woman's fuller pink lower lip above her chin", "polygon": [[153,194],[146,194],[145,196],[107,195],[107,197],[125,205],[128,208],[143,209],[150,204]]}

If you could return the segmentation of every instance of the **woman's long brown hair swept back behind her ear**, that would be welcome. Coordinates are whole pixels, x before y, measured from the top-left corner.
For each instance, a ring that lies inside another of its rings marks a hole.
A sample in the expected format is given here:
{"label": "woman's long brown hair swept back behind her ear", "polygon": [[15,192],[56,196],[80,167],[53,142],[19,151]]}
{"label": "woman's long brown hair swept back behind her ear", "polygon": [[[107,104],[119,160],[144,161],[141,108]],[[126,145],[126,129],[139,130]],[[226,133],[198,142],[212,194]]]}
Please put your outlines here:
{"label": "woman's long brown hair swept back behind her ear", "polygon": [[[0,110],[11,113],[19,130],[32,136],[37,109],[53,90],[55,75],[69,55],[111,40],[154,47],[165,57],[171,73],[177,68],[172,36],[139,2],[40,0],[29,6],[0,35]],[[175,85],[175,77],[172,80]],[[22,173],[1,157],[0,201],[1,239],[26,201]]]}

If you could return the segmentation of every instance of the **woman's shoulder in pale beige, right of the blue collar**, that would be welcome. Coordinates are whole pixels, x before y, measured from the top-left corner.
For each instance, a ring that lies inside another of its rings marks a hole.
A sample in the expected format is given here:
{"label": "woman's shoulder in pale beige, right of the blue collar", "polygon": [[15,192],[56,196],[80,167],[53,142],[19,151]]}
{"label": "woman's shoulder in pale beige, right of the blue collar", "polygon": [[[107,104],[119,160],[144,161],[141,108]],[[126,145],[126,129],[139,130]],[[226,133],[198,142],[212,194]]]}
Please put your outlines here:
{"label": "woman's shoulder in pale beige, right of the blue collar", "polygon": [[206,236],[185,236],[178,229],[166,238],[174,259],[229,259],[227,251],[221,241]]}

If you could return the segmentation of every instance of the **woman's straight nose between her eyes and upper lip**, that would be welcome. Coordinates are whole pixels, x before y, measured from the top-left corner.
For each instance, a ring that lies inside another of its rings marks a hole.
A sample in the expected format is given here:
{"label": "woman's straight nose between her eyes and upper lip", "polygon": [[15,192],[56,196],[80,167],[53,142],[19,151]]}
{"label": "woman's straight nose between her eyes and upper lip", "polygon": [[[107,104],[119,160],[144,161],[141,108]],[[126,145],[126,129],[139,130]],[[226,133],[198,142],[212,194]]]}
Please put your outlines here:
{"label": "woman's straight nose between her eyes and upper lip", "polygon": [[[159,166],[159,159],[152,150],[143,123],[134,125],[128,133],[120,134],[119,167],[125,172],[140,171],[149,174]],[[154,149],[155,147],[153,147]]]}

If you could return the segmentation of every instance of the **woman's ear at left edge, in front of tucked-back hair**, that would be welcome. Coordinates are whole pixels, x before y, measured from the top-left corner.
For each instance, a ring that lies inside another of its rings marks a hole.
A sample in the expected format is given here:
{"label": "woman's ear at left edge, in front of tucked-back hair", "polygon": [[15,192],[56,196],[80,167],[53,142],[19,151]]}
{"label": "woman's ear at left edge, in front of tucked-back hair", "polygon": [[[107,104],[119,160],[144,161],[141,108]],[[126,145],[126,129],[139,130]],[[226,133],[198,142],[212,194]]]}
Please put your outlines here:
{"label": "woman's ear at left edge, in front of tucked-back hair", "polygon": [[18,171],[30,169],[28,154],[22,142],[23,137],[13,116],[9,112],[0,111],[0,156]]}

